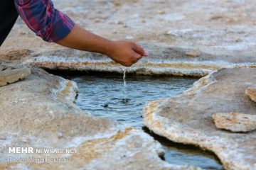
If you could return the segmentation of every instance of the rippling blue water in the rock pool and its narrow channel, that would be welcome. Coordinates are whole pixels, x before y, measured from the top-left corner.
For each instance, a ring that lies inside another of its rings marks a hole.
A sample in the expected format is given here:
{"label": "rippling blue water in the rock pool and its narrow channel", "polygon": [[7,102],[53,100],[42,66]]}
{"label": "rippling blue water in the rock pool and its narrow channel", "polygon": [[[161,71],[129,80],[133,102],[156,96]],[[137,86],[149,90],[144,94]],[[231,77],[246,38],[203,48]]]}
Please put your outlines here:
{"label": "rippling blue water in the rock pool and its narrow channel", "polygon": [[[82,110],[137,128],[142,128],[142,110],[146,103],[182,94],[182,91],[190,88],[196,81],[181,77],[127,76],[124,91],[124,77],[121,75],[94,74],[66,78],[78,83],[79,94],[76,103]],[[198,147],[176,144],[151,134],[146,128],[144,131],[163,145],[166,162],[193,164],[203,169],[223,169],[214,154],[204,152]]]}

